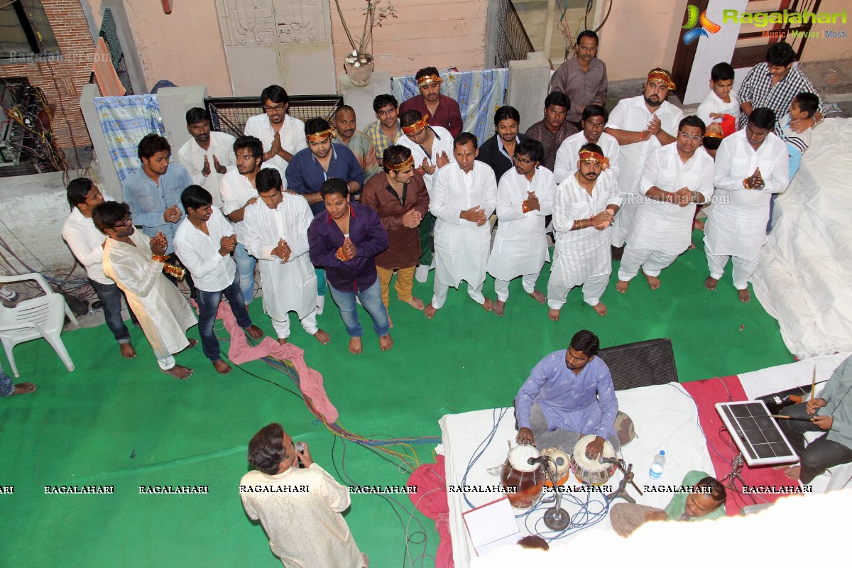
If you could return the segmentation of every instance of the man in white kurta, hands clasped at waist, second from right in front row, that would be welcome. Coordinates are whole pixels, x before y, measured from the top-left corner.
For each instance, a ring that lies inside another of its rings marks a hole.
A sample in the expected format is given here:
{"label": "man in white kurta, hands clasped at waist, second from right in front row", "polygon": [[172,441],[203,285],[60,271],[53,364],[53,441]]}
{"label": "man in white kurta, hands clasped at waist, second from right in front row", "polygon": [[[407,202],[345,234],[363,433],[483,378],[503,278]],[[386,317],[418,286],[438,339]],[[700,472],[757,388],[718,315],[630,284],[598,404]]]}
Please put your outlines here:
{"label": "man in white kurta, hands clasped at waist, second from right in front row", "polygon": [[659,273],[689,248],[696,204],[713,194],[713,158],[701,145],[704,131],[698,117],[684,118],[677,141],[645,162],[640,185],[645,204],[636,209],[627,233],[615,285],[622,294],[640,267],[651,290],[657,290]]}

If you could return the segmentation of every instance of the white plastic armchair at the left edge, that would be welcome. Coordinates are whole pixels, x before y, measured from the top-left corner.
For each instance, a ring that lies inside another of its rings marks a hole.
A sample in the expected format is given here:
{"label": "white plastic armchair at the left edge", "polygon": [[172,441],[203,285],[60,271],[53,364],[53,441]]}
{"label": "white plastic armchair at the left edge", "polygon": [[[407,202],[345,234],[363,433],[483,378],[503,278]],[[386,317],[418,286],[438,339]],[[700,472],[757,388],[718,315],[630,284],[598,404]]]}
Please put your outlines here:
{"label": "white plastic armchair at the left edge", "polygon": [[6,358],[12,365],[14,376],[19,377],[20,375],[18,374],[18,366],[14,364],[12,349],[18,343],[39,337],[48,341],[50,347],[54,348],[69,372],[74,370],[74,363],[60,339],[60,333],[65,324],[66,316],[74,324],[77,324],[77,318],[74,317],[71,308],[66,304],[65,298],[61,294],[56,294],[44,281],[41,274],[0,276],[0,284],[23,282],[24,280],[35,280],[44,290],[44,295],[19,301],[15,307],[0,306],[0,341],[3,341]]}

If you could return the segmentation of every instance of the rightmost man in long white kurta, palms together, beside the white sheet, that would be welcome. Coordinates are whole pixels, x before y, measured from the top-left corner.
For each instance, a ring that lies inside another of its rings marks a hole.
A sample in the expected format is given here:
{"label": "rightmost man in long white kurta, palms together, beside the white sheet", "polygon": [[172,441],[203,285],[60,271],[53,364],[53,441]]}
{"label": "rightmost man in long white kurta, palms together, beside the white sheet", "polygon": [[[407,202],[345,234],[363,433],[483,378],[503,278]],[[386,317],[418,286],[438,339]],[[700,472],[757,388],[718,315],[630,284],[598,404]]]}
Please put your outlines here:
{"label": "rightmost man in long white kurta, palms together, beside the white sheet", "polygon": [[722,140],[716,153],[716,199],[704,234],[710,269],[705,287],[716,290],[733,256],[734,288],[740,301],[751,300],[748,280],[766,242],[769,200],[788,183],[786,145],[773,134],[774,124],[772,110],[757,108],[746,128]]}

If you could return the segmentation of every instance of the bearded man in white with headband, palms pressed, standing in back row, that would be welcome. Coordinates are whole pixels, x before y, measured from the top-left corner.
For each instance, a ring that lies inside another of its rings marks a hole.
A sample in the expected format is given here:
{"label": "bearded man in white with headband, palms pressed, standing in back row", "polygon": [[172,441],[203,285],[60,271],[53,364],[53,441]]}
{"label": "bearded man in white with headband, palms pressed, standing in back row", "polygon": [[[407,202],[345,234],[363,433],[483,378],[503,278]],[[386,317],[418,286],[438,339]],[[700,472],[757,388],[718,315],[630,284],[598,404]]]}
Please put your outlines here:
{"label": "bearded man in white with headband, palms pressed, standing in back row", "polygon": [[614,247],[624,246],[627,231],[642,200],[639,182],[645,160],[660,146],[675,141],[677,124],[681,122],[683,112],[665,100],[672,89],[675,89],[675,83],[671,74],[663,69],[653,69],[648,73],[642,95],[619,100],[609,115],[607,133],[613,135],[621,146],[619,191],[623,198],[610,238]]}

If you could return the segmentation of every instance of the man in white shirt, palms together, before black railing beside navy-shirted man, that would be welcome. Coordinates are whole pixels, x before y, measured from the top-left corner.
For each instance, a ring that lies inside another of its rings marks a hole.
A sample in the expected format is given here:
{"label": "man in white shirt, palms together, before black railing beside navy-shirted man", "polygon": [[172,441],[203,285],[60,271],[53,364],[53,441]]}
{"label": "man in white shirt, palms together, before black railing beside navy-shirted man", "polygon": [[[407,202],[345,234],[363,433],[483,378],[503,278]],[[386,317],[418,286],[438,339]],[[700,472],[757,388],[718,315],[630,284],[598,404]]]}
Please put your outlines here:
{"label": "man in white shirt, palms together, before black railing beside navy-shirted man", "polygon": [[299,150],[308,147],[305,123],[287,114],[290,97],[284,87],[269,85],[261,92],[263,114],[245,121],[245,135],[255,136],[263,143],[263,161],[279,167],[282,172]]}

